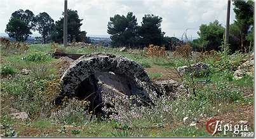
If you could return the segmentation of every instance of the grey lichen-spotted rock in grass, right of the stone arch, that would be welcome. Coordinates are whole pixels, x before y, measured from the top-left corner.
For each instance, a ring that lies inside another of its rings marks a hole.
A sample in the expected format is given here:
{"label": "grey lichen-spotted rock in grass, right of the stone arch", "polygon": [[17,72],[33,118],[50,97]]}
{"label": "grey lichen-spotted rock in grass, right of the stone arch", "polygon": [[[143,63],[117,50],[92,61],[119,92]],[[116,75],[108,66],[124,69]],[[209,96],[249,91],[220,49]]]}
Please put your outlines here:
{"label": "grey lichen-spotted rock in grass, right of the stone arch", "polygon": [[196,77],[205,76],[210,73],[210,68],[206,63],[195,63],[190,66],[178,67],[178,72],[183,76],[187,73],[192,73]]}

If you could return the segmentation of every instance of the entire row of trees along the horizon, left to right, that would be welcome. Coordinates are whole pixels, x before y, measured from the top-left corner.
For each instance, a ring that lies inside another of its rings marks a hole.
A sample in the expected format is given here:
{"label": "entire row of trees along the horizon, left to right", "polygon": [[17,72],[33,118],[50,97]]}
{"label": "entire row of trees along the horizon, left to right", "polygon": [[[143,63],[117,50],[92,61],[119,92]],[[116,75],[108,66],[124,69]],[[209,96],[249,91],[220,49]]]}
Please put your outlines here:
{"label": "entire row of trees along the horizon, left to right", "polygon": [[[254,42],[254,1],[234,1],[234,23],[230,25],[229,46],[232,51],[241,50],[244,52],[253,49]],[[68,39],[69,42],[86,42],[86,31],[82,31],[83,19],[79,18],[76,10],[68,10]],[[62,14],[63,15],[63,14]],[[175,50],[175,47],[184,43],[177,37],[165,36],[161,29],[163,18],[156,15],[145,15],[141,25],[138,25],[137,18],[132,12],[127,15],[114,15],[107,23],[107,33],[111,35],[111,46],[128,46],[130,48],[144,48],[149,44],[165,46],[166,50]],[[16,39],[25,41],[31,30],[41,34],[43,43],[54,41],[62,43],[64,17],[54,20],[43,12],[34,15],[29,10],[18,10],[11,14],[6,25],[6,33]],[[220,50],[224,43],[225,27],[215,20],[208,24],[202,24],[198,30],[198,39],[189,40],[185,43],[191,44],[194,51]]]}

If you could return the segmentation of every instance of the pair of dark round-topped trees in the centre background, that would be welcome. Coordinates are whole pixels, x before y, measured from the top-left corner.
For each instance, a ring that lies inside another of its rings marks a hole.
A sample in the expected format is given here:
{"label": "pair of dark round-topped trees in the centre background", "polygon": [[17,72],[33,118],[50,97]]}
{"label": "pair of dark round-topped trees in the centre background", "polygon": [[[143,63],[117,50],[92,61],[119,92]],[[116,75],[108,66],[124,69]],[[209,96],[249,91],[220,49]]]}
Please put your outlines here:
{"label": "pair of dark round-topped trees in the centre background", "polygon": [[143,48],[149,44],[165,46],[171,50],[173,44],[180,40],[177,37],[165,36],[161,30],[163,18],[156,15],[145,15],[141,25],[132,12],[127,15],[114,15],[107,25],[107,33],[111,35],[111,46],[128,46],[130,48]]}

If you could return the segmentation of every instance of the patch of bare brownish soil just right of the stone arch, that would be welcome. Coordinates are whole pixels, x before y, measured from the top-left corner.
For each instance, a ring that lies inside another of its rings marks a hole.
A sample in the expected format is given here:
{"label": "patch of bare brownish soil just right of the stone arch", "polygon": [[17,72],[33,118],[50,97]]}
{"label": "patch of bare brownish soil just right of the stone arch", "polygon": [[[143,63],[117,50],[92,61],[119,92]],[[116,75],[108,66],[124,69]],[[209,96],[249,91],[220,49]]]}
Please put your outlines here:
{"label": "patch of bare brownish soil just right of the stone arch", "polygon": [[151,73],[161,73],[163,76],[161,76],[158,79],[153,79],[153,80],[166,80],[166,79],[173,79],[175,81],[180,81],[180,76],[179,73],[177,72],[177,70],[175,69],[167,69],[164,67],[161,67],[159,65],[154,65],[150,68],[145,68],[145,70],[147,72],[151,72]]}

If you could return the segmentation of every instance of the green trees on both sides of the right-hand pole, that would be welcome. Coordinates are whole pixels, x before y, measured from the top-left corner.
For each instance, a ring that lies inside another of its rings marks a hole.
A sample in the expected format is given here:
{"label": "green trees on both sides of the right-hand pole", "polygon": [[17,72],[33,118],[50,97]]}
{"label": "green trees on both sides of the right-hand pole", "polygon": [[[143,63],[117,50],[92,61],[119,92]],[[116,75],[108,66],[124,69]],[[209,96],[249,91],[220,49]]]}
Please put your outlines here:
{"label": "green trees on both sides of the right-hand pole", "polygon": [[[254,2],[234,1],[234,13],[236,19],[230,25],[229,44],[232,52],[241,50],[248,52],[253,50],[254,41]],[[220,50],[224,42],[225,28],[217,20],[208,25],[201,25],[198,31],[199,39],[191,42],[196,51]]]}

